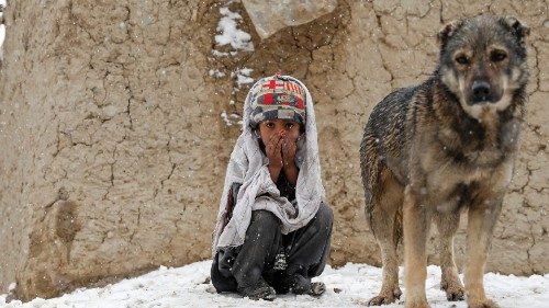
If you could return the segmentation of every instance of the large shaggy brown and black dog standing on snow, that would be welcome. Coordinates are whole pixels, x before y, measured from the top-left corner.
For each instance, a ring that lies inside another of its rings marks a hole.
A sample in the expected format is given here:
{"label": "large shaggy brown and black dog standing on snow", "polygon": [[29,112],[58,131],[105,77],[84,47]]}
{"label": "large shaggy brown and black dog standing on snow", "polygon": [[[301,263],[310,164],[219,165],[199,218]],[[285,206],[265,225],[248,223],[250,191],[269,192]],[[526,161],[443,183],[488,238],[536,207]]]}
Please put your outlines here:
{"label": "large shaggy brown and black dog standing on snow", "polygon": [[[360,144],[366,216],[381,249],[383,282],[369,305],[395,301],[397,244],[404,240],[405,307],[429,307],[426,239],[440,235],[440,286],[448,300],[497,307],[486,298],[484,265],[511,182],[525,116],[529,28],[512,16],[479,15],[438,33],[437,68],[419,85],[374,106]],[[453,236],[468,210],[464,287]]]}

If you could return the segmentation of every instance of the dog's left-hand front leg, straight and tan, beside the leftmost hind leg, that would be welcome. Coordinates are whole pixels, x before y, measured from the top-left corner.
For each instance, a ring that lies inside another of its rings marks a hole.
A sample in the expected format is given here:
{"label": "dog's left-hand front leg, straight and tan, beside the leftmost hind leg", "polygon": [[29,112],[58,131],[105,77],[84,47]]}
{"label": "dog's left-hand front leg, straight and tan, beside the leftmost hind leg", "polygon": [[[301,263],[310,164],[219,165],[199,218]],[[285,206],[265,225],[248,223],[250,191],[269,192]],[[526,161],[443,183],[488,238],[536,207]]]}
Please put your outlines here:
{"label": "dog's left-hand front leg, straight and tan, beside the leftmost hind leg", "polygon": [[404,191],[404,286],[406,308],[425,308],[425,280],[427,278],[426,242],[430,226],[430,209],[423,203],[424,197],[411,185]]}

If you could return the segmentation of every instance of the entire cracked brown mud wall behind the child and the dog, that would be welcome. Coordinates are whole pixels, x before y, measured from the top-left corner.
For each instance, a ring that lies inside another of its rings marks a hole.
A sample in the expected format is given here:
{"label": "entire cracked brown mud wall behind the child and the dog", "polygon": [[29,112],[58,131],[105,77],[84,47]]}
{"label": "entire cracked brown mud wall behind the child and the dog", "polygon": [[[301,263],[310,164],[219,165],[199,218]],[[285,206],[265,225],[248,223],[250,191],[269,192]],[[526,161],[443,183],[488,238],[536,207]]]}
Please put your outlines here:
{"label": "entire cracked brown mud wall behind the child and the dog", "polygon": [[[442,24],[479,12],[513,14],[531,27],[528,118],[488,270],[549,272],[548,5],[339,0],[332,13],[261,41],[238,1],[10,2],[0,289],[16,282],[23,299],[49,297],[210,258],[244,96],[253,80],[277,70],[302,79],[315,100],[336,219],[330,263],[379,264],[363,216],[362,127],[392,89],[433,71]],[[251,35],[240,33],[246,44],[219,43],[220,21],[229,16]],[[463,240],[462,228],[460,264]],[[429,249],[436,262],[436,244]]]}

